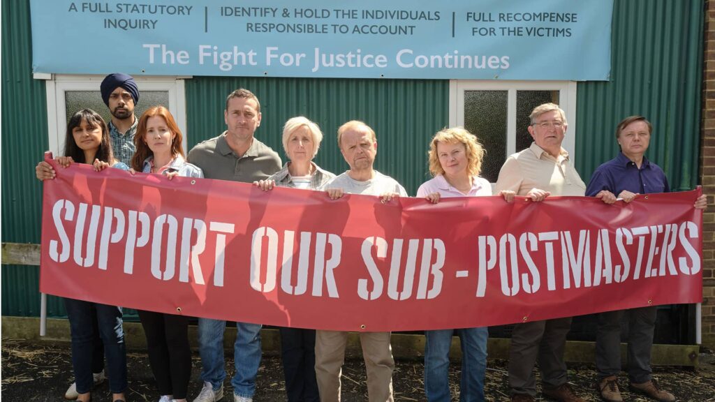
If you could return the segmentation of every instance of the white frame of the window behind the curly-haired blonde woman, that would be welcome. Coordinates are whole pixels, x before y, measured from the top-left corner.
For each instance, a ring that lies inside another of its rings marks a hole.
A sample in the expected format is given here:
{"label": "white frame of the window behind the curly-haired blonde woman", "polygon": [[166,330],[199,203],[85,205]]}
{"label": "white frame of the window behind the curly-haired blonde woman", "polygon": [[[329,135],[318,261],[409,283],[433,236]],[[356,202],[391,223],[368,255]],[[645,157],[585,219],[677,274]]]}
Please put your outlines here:
{"label": "white frame of the window behind the curly-haired blonde woman", "polygon": [[507,124],[506,155],[521,151],[516,149],[516,92],[517,91],[558,90],[558,103],[566,112],[568,129],[561,146],[566,149],[571,162],[576,156],[576,82],[574,81],[468,81],[450,80],[449,83],[449,124],[450,127],[464,126],[465,91],[506,91]]}

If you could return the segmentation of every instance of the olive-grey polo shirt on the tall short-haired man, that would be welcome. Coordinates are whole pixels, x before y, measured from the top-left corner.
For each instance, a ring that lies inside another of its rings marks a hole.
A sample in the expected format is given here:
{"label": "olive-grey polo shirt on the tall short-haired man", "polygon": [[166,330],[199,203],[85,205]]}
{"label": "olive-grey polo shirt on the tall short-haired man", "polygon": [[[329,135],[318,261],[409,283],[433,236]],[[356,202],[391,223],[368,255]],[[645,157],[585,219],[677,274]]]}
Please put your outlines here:
{"label": "olive-grey polo shirt on the tall short-haired man", "polygon": [[189,162],[201,168],[207,179],[246,183],[265,180],[281,167],[278,154],[256,138],[239,157],[228,146],[226,132],[193,147]]}

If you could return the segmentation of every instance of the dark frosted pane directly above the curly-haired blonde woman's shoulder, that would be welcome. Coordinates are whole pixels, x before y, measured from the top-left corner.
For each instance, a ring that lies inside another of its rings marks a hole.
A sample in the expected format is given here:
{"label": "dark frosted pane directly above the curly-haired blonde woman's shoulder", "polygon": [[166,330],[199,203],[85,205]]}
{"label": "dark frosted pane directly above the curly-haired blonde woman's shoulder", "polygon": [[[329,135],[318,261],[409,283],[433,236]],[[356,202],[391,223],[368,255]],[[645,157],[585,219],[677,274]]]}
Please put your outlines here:
{"label": "dark frosted pane directly above the curly-haired blonde woman's shoulder", "polygon": [[464,127],[486,149],[480,175],[490,182],[496,182],[506,160],[507,107],[506,91],[464,92]]}

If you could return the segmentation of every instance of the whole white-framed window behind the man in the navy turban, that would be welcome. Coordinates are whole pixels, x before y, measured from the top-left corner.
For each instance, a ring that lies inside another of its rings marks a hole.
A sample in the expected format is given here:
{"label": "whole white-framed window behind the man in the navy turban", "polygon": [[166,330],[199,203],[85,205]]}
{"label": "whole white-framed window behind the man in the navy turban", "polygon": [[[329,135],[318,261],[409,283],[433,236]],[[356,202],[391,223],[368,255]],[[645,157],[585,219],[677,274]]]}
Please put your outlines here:
{"label": "whole white-framed window behind the man in the navy turban", "polygon": [[[36,79],[46,79],[47,123],[49,150],[55,156],[64,153],[64,135],[67,121],[77,110],[94,109],[109,122],[107,105],[102,101],[99,84],[104,76],[35,74]],[[144,110],[162,104],[174,115],[179,129],[184,133],[183,147],[187,150],[186,100],[184,79],[177,77],[134,77],[139,86],[139,102],[134,109],[137,118]]]}

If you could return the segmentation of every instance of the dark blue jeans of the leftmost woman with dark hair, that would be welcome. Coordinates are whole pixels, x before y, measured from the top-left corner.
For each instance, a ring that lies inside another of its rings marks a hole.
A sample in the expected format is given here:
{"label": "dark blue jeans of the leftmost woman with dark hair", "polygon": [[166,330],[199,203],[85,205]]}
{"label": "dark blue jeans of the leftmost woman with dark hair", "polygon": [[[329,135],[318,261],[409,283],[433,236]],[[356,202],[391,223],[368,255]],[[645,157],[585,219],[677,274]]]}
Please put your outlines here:
{"label": "dark blue jeans of the leftmost woman with dark hair", "polygon": [[107,355],[107,376],[112,393],[127,389],[127,350],[124,345],[122,308],[114,305],[64,299],[71,333],[72,368],[78,393],[92,391],[92,361],[94,360],[95,329],[92,321],[97,312],[99,337]]}

